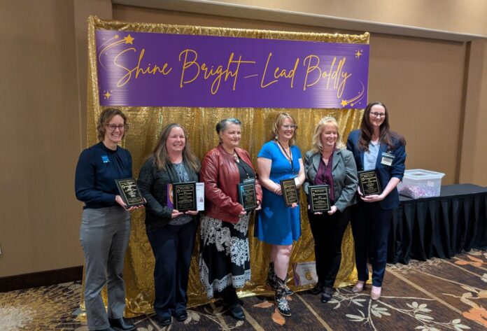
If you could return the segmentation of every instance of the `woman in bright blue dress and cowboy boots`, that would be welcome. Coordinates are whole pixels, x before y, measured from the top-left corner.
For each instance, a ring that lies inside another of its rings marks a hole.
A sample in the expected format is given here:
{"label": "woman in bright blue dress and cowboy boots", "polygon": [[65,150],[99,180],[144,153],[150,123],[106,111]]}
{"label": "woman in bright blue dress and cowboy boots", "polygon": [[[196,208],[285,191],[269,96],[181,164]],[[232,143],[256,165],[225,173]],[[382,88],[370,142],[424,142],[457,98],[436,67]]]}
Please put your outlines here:
{"label": "woman in bright blue dress and cowboy boots", "polygon": [[262,185],[262,210],[255,223],[255,237],[271,244],[267,285],[276,292],[276,306],[283,316],[291,316],[285,285],[293,241],[301,235],[299,204],[285,206],[280,181],[295,178],[299,189],[304,183],[301,151],[294,145],[297,125],[288,113],[277,115],[272,126],[272,139],[264,143],[257,155],[257,168]]}

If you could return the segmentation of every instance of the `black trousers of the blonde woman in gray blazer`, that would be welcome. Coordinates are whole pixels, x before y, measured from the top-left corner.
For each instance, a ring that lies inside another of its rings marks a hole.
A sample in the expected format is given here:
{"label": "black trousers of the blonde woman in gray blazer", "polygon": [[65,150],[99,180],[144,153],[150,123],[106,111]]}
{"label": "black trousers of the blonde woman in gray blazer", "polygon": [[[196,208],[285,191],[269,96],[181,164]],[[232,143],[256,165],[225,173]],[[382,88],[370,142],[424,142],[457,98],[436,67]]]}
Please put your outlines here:
{"label": "black trousers of the blonde woman in gray blazer", "polygon": [[348,209],[333,215],[315,215],[308,212],[311,233],[315,242],[316,274],[318,283],[332,288],[341,262],[341,239],[348,224]]}

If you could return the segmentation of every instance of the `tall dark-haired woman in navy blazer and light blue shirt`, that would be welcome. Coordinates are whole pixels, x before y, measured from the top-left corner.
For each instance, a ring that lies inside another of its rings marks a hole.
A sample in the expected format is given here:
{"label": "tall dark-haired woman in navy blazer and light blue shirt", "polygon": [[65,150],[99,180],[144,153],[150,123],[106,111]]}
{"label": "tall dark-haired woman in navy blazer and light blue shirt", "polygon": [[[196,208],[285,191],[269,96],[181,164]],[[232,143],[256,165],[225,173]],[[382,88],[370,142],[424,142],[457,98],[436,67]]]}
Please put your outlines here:
{"label": "tall dark-haired woman in navy blazer and light blue shirt", "polygon": [[348,135],[346,147],[351,150],[358,171],[375,169],[381,183],[380,195],[364,197],[352,211],[352,232],[355,241],[355,263],[358,282],[354,293],[360,293],[369,279],[367,259],[372,263],[372,290],[370,297],[381,297],[381,286],[386,272],[387,242],[393,209],[399,206],[397,184],[404,175],[406,141],[390,131],[386,106],[374,101],[365,108],[360,129]]}

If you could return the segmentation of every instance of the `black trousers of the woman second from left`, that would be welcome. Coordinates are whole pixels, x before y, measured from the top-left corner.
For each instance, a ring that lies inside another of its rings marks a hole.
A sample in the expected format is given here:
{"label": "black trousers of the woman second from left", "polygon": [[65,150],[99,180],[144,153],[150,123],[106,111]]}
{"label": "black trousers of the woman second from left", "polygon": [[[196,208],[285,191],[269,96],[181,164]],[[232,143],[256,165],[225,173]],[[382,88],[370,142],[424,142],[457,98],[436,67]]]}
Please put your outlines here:
{"label": "black trousers of the woman second from left", "polygon": [[147,234],[155,258],[154,310],[160,318],[186,309],[196,229],[196,223],[191,221],[183,225],[167,225]]}

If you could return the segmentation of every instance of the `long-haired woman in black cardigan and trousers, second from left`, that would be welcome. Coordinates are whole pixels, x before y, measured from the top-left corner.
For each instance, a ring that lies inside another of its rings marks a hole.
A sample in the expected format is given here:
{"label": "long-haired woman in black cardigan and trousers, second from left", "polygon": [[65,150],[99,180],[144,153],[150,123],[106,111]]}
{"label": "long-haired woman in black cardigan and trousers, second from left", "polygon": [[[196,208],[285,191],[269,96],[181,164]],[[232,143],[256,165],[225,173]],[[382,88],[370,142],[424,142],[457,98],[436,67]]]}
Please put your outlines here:
{"label": "long-haired woman in black cardigan and trousers, second from left", "polygon": [[154,310],[162,325],[188,318],[188,275],[197,211],[181,213],[168,206],[169,183],[198,181],[199,160],[192,153],[188,134],[176,123],[162,129],[157,146],[139,174],[146,199],[146,232],[155,257]]}

